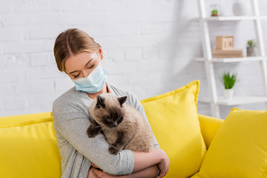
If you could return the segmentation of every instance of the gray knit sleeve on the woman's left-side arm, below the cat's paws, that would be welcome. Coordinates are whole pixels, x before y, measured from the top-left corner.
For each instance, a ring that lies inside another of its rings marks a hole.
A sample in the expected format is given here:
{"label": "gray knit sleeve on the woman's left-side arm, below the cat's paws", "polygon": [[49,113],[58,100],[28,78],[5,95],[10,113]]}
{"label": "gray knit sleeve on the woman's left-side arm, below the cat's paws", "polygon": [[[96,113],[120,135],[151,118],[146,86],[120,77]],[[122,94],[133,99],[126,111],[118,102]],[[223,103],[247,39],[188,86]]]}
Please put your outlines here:
{"label": "gray knit sleeve on the woman's left-side arm, below the cat's paws", "polygon": [[[131,150],[123,150],[118,155],[110,155],[109,144],[102,134],[95,138],[87,137],[90,120],[74,103],[53,103],[54,125],[66,142],[90,162],[100,167],[108,174],[131,174],[134,169],[134,154]],[[60,150],[68,154],[68,150]]]}

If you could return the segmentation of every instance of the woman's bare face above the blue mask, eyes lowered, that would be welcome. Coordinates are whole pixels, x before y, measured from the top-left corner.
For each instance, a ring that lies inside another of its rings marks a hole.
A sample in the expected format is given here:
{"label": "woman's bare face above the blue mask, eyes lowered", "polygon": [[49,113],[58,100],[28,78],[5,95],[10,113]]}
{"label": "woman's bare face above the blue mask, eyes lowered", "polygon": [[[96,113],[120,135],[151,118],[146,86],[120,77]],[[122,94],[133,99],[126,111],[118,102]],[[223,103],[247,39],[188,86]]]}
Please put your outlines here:
{"label": "woman's bare face above the blue mask, eyes lowered", "polygon": [[[65,69],[67,75],[71,79],[78,79],[87,77],[102,62],[102,50],[98,52],[89,53],[81,52],[76,56],[68,58],[65,62]],[[103,63],[102,63],[103,65]]]}

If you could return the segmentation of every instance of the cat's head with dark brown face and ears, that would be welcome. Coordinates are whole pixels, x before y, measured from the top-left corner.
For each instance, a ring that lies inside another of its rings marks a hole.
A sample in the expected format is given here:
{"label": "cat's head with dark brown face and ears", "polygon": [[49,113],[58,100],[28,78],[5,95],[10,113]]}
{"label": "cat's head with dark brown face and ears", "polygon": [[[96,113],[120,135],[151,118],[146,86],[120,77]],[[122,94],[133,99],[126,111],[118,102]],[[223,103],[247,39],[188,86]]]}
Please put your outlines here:
{"label": "cat's head with dark brown face and ears", "polygon": [[124,102],[126,96],[118,98],[113,94],[97,95],[97,103],[94,108],[94,119],[101,126],[113,129],[124,120]]}

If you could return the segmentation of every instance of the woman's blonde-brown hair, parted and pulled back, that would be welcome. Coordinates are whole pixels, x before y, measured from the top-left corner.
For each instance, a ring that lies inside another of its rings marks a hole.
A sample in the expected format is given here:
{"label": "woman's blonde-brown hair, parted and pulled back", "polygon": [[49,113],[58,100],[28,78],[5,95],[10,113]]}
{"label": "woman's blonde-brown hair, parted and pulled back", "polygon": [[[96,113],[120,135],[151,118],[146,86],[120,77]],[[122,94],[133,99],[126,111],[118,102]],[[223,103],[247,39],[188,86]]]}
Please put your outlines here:
{"label": "woman's blonde-brown hair, parted and pulled back", "polygon": [[61,72],[65,71],[65,62],[80,52],[94,53],[101,46],[86,32],[78,29],[68,29],[63,31],[55,40],[54,57]]}

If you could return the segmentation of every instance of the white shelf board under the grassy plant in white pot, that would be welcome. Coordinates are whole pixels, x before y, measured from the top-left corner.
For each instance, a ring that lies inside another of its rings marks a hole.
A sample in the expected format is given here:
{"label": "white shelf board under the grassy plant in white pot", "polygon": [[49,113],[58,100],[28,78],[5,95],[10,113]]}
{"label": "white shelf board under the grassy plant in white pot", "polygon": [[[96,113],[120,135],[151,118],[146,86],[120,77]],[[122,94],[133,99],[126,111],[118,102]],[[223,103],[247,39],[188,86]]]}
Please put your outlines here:
{"label": "white shelf board under the grassy plant in white pot", "polygon": [[[209,99],[198,99],[198,102],[210,103]],[[217,103],[220,105],[232,106],[237,104],[267,102],[267,96],[235,96],[231,100],[226,100],[222,97],[218,97]]]}

